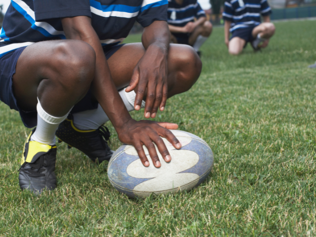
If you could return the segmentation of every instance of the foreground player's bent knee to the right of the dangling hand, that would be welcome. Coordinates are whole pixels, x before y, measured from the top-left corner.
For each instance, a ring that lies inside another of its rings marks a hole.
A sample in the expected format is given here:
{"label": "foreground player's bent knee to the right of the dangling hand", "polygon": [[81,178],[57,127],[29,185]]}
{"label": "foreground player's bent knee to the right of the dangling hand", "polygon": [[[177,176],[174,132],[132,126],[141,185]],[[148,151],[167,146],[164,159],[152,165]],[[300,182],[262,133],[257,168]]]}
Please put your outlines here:
{"label": "foreground player's bent knee to the right of the dangling hand", "polygon": [[183,47],[179,58],[181,58],[179,64],[182,65],[181,80],[183,85],[185,85],[183,87],[184,90],[187,91],[197,81],[202,70],[202,62],[197,52],[190,46]]}

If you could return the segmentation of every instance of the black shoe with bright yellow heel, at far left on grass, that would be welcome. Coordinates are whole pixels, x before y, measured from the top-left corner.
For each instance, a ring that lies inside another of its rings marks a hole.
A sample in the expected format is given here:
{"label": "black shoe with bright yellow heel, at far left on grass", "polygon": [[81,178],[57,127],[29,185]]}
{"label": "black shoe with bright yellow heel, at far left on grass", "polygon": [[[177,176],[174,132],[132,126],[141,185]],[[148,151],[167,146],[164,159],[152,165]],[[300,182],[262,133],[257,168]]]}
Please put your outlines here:
{"label": "black shoe with bright yellow heel, at far left on grass", "polygon": [[41,194],[42,191],[56,188],[55,163],[56,145],[50,146],[30,141],[31,132],[26,139],[19,169],[19,183],[22,190],[32,190],[34,194]]}

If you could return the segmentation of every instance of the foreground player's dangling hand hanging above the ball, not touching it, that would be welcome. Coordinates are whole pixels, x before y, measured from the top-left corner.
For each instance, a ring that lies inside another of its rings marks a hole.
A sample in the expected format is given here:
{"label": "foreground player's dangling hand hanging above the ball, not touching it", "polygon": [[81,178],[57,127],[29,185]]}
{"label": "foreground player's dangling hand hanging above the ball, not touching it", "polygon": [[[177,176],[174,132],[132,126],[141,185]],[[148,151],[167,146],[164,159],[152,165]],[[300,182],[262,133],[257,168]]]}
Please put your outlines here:
{"label": "foreground player's dangling hand hanging above the ball, not touching it", "polygon": [[145,118],[155,118],[158,108],[164,110],[168,97],[167,70],[167,49],[155,44],[148,47],[134,68],[125,91],[135,89],[135,110],[140,110],[142,100],[146,97]]}

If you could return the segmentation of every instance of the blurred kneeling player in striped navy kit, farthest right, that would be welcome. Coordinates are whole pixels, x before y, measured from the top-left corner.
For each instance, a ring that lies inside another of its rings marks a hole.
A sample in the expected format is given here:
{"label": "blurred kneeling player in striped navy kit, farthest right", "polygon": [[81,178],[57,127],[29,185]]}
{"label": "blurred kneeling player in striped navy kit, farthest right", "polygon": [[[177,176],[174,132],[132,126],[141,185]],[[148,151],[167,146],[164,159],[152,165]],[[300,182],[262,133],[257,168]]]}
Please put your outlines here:
{"label": "blurred kneeling player in striped navy kit, farthest right", "polygon": [[[229,53],[241,53],[247,42],[250,42],[255,51],[267,47],[276,29],[270,22],[271,13],[267,0],[225,0],[223,19]],[[261,23],[260,14],[264,23]]]}

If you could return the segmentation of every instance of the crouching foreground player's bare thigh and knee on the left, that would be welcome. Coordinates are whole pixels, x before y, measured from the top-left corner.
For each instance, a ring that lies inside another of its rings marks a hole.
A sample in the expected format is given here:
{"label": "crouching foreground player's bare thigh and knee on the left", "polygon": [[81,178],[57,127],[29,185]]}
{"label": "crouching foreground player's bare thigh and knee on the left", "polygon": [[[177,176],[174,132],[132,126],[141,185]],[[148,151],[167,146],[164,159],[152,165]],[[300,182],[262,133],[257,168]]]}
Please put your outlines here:
{"label": "crouching foreground player's bare thigh and knee on the left", "polygon": [[[36,106],[43,79],[71,79],[78,75],[79,65],[83,66],[80,67],[83,71],[86,66],[92,67],[91,49],[81,40],[51,40],[27,46],[17,60],[12,79],[13,93],[20,107],[30,110]],[[62,81],[67,82],[70,80]]]}

